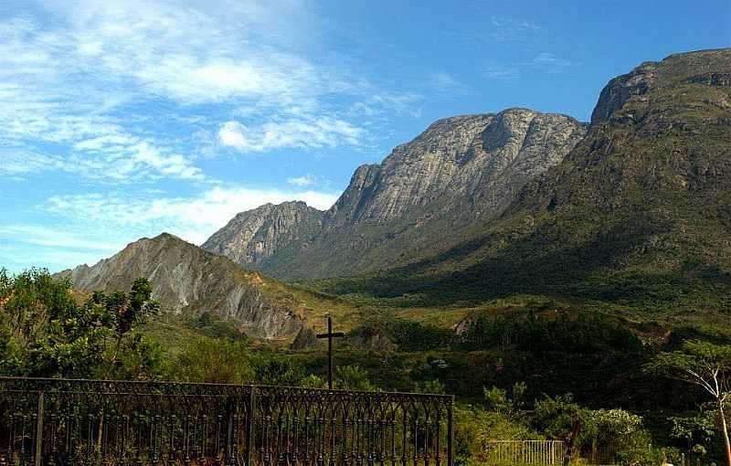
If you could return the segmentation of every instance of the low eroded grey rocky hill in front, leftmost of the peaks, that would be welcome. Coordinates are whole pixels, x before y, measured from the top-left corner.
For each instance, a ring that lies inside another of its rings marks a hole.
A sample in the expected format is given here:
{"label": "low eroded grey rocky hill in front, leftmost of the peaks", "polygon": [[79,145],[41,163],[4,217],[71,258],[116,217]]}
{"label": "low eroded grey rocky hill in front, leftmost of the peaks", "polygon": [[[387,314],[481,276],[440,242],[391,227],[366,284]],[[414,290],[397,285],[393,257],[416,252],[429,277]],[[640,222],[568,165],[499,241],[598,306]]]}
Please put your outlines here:
{"label": "low eroded grey rocky hill in front, leftmost of the peaks", "polygon": [[213,312],[238,321],[242,331],[259,338],[296,334],[302,326],[302,310],[270,293],[260,274],[166,233],[60,275],[87,292],[127,291],[136,278],[146,277],[154,283],[153,298],[163,312]]}

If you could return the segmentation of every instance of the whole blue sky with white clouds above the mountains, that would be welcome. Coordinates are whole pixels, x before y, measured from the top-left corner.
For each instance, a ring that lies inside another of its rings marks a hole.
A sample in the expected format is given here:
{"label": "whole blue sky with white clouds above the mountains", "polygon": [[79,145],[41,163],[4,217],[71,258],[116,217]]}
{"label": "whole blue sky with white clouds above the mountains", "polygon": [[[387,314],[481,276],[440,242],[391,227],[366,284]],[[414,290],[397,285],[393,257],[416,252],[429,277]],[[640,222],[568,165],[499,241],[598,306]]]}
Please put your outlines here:
{"label": "whole blue sky with white clouds above the mountains", "polygon": [[[116,4],[116,5],[115,5]],[[642,61],[731,44],[720,1],[5,0],[0,266],[62,270],[237,212],[327,208],[430,122],[587,121]]]}

